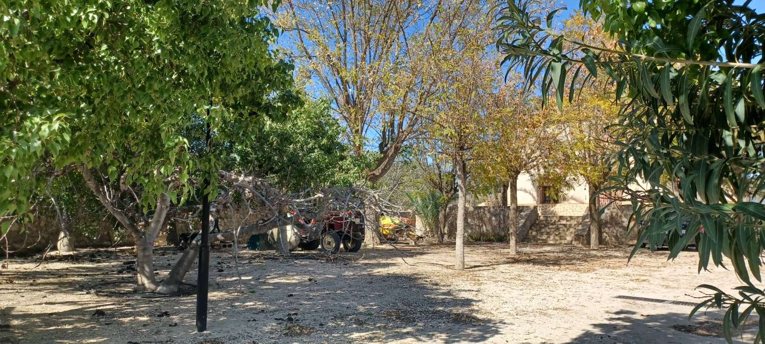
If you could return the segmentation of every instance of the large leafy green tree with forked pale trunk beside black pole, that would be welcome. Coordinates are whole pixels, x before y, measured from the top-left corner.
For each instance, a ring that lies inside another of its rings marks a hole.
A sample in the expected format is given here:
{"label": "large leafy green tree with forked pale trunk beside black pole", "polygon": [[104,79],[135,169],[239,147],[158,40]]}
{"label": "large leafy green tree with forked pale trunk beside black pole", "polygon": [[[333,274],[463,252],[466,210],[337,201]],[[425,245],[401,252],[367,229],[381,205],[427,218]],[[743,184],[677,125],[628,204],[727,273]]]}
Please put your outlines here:
{"label": "large leafy green tree with forked pale trunk beside black pole", "polygon": [[[43,162],[74,167],[135,238],[138,288],[177,290],[196,252],[160,284],[153,244],[171,203],[210,177],[221,141],[247,138],[255,118],[283,118],[297,103],[291,65],[271,48],[268,2],[10,2],[0,9],[0,214],[5,231],[29,216]],[[213,132],[212,148],[184,133]],[[103,173],[103,175],[102,175]],[[121,206],[114,187],[135,197]],[[153,210],[150,211],[150,210]],[[10,219],[10,220],[8,220]]]}

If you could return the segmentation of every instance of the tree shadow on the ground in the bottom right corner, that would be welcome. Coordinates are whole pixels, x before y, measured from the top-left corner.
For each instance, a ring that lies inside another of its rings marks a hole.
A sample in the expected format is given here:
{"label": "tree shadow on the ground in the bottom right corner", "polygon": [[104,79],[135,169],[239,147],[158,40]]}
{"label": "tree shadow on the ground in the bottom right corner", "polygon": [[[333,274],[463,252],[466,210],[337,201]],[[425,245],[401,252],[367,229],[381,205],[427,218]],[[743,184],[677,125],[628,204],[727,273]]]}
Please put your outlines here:
{"label": "tree shadow on the ground in the bottom right corner", "polygon": [[[641,314],[632,310],[620,310],[607,321],[592,325],[570,342],[593,342],[608,344],[643,343],[725,343],[720,312],[700,313],[688,320],[687,313]],[[753,342],[757,333],[757,316],[750,326],[734,333],[734,342]],[[754,327],[753,327],[754,326]]]}

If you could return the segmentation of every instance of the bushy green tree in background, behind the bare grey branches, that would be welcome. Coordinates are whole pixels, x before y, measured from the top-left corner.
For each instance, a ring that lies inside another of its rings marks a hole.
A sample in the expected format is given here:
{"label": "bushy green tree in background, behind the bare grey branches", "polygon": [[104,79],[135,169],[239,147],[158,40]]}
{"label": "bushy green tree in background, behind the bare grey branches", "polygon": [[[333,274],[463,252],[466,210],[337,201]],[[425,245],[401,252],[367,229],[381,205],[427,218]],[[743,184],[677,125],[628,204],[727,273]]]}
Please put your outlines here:
{"label": "bushy green tree in background, behind the bare grey branches", "polygon": [[[342,128],[327,99],[304,99],[284,121],[257,118],[247,144],[236,144],[225,170],[238,170],[269,180],[288,192],[327,185],[350,185],[363,177],[363,157],[353,158],[340,141]],[[268,148],[268,149],[264,149]]]}

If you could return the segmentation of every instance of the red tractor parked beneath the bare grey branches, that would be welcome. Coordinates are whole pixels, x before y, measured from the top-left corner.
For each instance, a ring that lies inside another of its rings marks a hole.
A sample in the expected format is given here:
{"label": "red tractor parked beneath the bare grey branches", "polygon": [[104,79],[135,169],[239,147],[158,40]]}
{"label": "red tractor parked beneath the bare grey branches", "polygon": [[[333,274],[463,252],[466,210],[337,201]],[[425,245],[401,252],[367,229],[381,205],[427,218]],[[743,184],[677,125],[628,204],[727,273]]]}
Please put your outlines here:
{"label": "red tractor parked beneath the bare grey branches", "polygon": [[358,252],[364,242],[364,215],[360,211],[334,211],[324,216],[324,221],[301,219],[304,228],[300,234],[299,248],[336,253],[340,245],[346,252]]}

